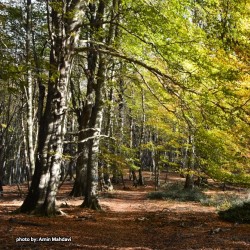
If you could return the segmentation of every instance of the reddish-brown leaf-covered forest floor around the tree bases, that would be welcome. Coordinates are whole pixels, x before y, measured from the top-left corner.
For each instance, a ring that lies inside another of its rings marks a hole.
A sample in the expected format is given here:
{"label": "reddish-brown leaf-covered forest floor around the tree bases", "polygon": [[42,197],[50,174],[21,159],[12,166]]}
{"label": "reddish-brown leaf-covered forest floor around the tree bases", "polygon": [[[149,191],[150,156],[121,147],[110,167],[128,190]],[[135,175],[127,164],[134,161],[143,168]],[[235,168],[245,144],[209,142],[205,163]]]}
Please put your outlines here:
{"label": "reddish-brown leaf-covered forest floor around the tree bases", "polygon": [[23,198],[17,186],[4,186],[0,249],[250,249],[249,224],[224,222],[200,203],[149,200],[154,186],[146,184],[118,185],[100,195],[103,211],[91,211],[79,207],[82,198],[68,196],[72,183],[65,182],[58,205],[67,215],[53,218],[12,214]]}

